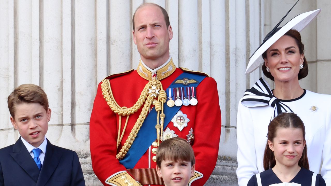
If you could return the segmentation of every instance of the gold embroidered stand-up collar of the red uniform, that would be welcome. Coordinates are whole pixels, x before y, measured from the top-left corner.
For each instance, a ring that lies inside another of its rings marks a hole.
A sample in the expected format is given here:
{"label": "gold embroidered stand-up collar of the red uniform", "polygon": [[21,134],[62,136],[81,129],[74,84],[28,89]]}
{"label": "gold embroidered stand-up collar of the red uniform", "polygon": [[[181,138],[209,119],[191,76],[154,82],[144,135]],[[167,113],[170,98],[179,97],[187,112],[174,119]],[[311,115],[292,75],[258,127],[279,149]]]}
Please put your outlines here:
{"label": "gold embroidered stand-up collar of the red uniform", "polygon": [[[169,75],[171,75],[175,70],[176,70],[176,66],[175,66],[175,64],[173,64],[173,61],[171,58],[170,61],[164,67],[162,67],[161,69],[156,71],[156,77],[158,80],[162,80],[162,79],[168,77]],[[144,79],[146,79],[148,81],[152,80],[152,72],[143,66],[143,64],[141,63],[141,60],[139,61],[137,72]]]}

